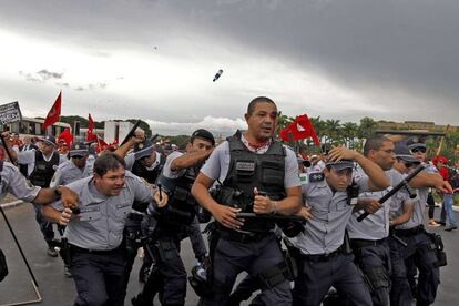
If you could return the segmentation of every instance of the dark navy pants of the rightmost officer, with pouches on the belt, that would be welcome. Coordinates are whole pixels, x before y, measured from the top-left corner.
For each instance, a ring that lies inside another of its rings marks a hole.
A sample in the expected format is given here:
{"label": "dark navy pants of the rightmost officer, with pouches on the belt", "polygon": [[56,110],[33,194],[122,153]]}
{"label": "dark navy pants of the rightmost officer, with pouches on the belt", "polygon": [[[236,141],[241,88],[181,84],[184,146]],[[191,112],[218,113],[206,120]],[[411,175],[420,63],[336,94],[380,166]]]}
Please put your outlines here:
{"label": "dark navy pants of the rightmost officer, with pouches on the belt", "polygon": [[412,294],[407,279],[407,262],[412,261],[419,269],[418,290],[416,293],[417,305],[430,305],[437,296],[437,287],[440,283],[440,272],[436,266],[437,255],[430,249],[431,239],[426,233],[411,236],[400,236],[408,245],[405,247],[394,238],[390,238],[390,256],[392,263],[392,289],[390,292],[390,305],[410,306]]}

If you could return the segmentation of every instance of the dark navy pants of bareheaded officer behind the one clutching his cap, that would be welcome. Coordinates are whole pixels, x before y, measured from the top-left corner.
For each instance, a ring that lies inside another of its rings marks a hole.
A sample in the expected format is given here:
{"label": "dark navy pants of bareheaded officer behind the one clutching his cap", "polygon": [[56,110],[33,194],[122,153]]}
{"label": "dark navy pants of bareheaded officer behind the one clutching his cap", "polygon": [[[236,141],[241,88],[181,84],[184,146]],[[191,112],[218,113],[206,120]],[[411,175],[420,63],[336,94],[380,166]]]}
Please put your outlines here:
{"label": "dark navy pants of bareheaded officer behind the one clutching his cap", "polygon": [[[370,243],[368,241],[368,243]],[[374,245],[359,244],[351,241],[353,253],[357,266],[371,285],[371,299],[374,306],[388,306],[390,293],[390,248],[388,241]]]}

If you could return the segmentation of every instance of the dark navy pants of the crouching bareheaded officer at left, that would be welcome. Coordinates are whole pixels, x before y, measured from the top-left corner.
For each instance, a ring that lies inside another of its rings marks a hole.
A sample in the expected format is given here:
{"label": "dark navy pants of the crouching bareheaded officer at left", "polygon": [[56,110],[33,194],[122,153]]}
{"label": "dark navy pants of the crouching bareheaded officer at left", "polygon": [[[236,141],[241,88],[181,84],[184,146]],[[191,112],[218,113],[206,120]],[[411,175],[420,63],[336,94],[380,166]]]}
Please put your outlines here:
{"label": "dark navy pants of the crouching bareheaded officer at left", "polygon": [[122,306],[125,297],[125,254],[71,251],[71,272],[76,286],[75,306]]}

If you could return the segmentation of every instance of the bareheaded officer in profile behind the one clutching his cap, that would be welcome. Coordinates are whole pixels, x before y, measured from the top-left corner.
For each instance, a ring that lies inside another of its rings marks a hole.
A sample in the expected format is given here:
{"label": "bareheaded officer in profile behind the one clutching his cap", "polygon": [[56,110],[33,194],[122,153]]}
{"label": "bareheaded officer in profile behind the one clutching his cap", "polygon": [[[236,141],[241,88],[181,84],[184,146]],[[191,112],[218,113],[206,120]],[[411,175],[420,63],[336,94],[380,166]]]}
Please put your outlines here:
{"label": "bareheaded officer in profile behind the one clutching his cap", "polygon": [[[373,136],[367,139],[364,146],[364,155],[380,166],[390,185],[396,186],[404,177],[396,170],[392,170],[395,162],[394,142],[385,136]],[[412,159],[412,156],[410,156]],[[357,169],[355,180],[360,180],[367,175]],[[359,194],[358,204],[365,203],[371,205],[368,210],[377,210],[369,214],[361,222],[357,217],[361,212],[355,212],[349,220],[346,230],[350,238],[350,245],[355,255],[357,266],[363,271],[370,288],[373,304],[389,305],[390,292],[390,248],[388,243],[391,207],[401,206],[408,201],[407,192],[398,192],[385,205],[380,205],[377,201],[382,197],[388,190],[379,192],[364,192]],[[391,204],[394,203],[394,204]],[[369,212],[367,210],[367,212]]]}

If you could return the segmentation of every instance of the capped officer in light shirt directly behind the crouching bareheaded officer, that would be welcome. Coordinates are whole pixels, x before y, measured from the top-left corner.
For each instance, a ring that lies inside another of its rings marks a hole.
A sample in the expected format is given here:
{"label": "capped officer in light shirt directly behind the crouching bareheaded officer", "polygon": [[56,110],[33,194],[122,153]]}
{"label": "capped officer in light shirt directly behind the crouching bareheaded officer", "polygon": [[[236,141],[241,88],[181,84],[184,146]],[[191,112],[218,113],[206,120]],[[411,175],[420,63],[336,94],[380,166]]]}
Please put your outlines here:
{"label": "capped officer in light shirt directly behind the crouching bareheaded officer", "polygon": [[60,164],[50,186],[68,185],[80,178],[92,176],[92,165],[88,163],[88,145],[73,143],[69,152],[70,160]]}

